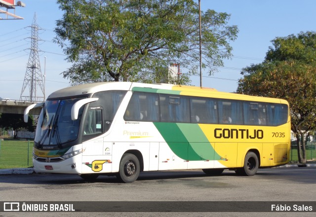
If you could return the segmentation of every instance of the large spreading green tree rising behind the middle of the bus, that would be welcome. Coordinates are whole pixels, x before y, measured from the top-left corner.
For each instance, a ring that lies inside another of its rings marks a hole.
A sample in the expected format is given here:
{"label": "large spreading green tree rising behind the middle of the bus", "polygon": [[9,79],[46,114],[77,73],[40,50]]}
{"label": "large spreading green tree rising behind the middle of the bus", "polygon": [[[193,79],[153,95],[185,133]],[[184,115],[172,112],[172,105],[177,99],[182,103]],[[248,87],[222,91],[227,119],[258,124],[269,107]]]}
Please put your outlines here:
{"label": "large spreading green tree rising behind the middle of the bus", "polygon": [[[193,0],[57,0],[64,11],[55,41],[72,67],[73,84],[98,81],[153,83],[171,63],[197,73],[198,6]],[[230,15],[201,13],[203,68],[209,74],[231,56],[237,38]],[[161,70],[161,67],[163,70]],[[156,69],[160,69],[156,71]],[[188,82],[188,74],[181,78]]]}

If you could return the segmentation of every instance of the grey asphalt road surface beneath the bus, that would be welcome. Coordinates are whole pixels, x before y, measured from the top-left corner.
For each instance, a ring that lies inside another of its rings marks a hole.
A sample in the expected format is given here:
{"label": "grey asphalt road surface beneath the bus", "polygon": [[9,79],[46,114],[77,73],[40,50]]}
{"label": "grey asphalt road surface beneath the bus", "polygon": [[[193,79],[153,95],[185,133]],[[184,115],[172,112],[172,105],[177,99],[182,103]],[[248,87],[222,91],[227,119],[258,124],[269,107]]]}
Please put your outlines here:
{"label": "grey asphalt road surface beneath the bus", "polygon": [[[100,176],[95,181],[84,181],[77,175],[0,175],[0,196],[1,201],[316,201],[315,167],[260,169],[254,177],[237,176],[233,171],[224,171],[221,176],[206,176],[200,170],[144,172],[134,183],[123,184],[117,181],[115,177],[107,176]],[[171,213],[134,215],[170,216],[169,214]],[[241,214],[254,215],[228,215]],[[28,215],[34,216],[31,213],[23,214]],[[50,215],[54,216],[53,213],[45,213],[45,216]],[[105,216],[104,213],[65,215]],[[131,216],[131,213],[111,213],[111,216],[121,215]],[[212,215],[215,214],[172,213],[171,216]],[[277,213],[260,214],[271,215],[278,216]],[[309,215],[315,216],[315,213],[304,213],[304,216]],[[19,214],[10,213],[7,216]]]}

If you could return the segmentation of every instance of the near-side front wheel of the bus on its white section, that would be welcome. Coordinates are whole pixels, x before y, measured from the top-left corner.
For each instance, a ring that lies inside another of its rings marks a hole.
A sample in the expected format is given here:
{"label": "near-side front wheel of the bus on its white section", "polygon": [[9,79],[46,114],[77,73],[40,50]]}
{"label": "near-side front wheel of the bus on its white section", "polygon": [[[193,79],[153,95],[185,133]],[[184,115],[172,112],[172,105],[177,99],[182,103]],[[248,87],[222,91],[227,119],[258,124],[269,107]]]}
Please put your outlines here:
{"label": "near-side front wheel of the bus on its white section", "polygon": [[119,163],[118,179],[125,183],[136,181],[140,172],[139,160],[134,154],[124,154]]}

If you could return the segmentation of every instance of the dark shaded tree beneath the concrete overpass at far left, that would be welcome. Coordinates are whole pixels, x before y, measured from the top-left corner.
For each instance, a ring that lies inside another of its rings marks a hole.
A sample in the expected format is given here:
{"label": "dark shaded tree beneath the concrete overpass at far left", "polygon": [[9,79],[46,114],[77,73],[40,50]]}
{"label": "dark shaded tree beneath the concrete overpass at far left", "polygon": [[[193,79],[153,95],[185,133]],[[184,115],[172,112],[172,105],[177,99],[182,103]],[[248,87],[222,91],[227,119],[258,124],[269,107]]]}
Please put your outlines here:
{"label": "dark shaded tree beneath the concrete overpass at far left", "polygon": [[24,128],[30,132],[35,131],[33,116],[29,115],[29,121],[25,123],[23,114],[2,113],[0,116],[0,127],[3,127],[5,130],[13,129],[14,139],[17,138],[18,132]]}

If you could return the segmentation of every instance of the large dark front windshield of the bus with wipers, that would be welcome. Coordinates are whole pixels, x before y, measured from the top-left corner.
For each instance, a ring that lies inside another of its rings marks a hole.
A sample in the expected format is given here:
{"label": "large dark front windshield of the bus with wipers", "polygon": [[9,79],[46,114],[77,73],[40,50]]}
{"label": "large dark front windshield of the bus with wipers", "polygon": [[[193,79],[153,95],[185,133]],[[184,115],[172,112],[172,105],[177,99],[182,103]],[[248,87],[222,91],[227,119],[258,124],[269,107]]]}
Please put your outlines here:
{"label": "large dark front windshield of the bus with wipers", "polygon": [[40,112],[35,143],[37,145],[57,145],[74,141],[78,138],[83,108],[79,109],[77,120],[71,119],[73,105],[83,98],[47,100]]}

